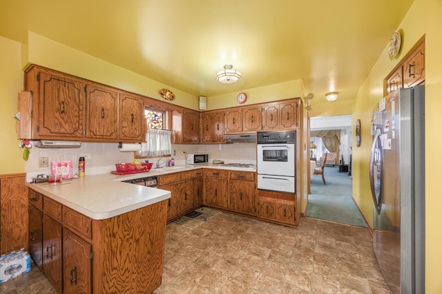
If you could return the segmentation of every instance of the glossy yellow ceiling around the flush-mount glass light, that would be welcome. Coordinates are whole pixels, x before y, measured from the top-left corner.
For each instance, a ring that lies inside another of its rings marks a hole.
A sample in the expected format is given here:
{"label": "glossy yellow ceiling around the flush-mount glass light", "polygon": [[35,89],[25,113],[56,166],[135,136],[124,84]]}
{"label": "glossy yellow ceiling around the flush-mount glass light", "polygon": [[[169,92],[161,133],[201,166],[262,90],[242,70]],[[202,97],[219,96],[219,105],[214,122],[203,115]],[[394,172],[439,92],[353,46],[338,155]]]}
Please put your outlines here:
{"label": "glossy yellow ceiling around the flush-mount glass light", "polygon": [[[345,101],[413,1],[2,0],[0,36],[31,30],[195,96],[302,79]],[[238,83],[215,81],[227,63]]]}

